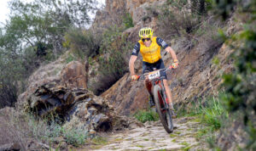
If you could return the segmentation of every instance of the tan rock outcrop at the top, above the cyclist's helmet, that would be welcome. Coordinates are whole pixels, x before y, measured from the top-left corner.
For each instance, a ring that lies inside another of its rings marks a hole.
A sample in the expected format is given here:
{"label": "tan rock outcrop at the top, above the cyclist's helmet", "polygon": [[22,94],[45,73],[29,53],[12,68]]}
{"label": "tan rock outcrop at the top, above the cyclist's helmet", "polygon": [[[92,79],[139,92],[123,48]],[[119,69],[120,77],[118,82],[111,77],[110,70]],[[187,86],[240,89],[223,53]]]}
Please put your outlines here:
{"label": "tan rock outcrop at the top, above the cyclist's helmet", "polygon": [[131,31],[129,40],[135,42],[137,34],[133,33],[137,33],[140,28],[143,26],[156,28],[158,7],[165,2],[166,0],[106,0],[106,7],[97,11],[90,29],[95,33],[102,33],[113,25],[120,26],[123,24],[125,14],[129,13],[134,24],[134,27],[129,29]]}

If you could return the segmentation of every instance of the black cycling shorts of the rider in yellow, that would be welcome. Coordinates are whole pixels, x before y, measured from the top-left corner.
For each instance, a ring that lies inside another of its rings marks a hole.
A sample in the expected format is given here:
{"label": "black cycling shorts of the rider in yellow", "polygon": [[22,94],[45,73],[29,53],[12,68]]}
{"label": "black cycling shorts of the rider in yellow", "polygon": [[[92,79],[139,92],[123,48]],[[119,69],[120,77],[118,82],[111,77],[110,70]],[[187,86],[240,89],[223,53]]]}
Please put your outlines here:
{"label": "black cycling shorts of the rider in yellow", "polygon": [[[153,64],[143,61],[143,74],[146,72],[154,71],[154,68],[156,70],[165,69],[166,67],[165,67],[164,61],[160,59]],[[164,72],[163,75],[161,74],[161,76],[164,76],[165,77],[164,79],[167,79],[166,72]]]}

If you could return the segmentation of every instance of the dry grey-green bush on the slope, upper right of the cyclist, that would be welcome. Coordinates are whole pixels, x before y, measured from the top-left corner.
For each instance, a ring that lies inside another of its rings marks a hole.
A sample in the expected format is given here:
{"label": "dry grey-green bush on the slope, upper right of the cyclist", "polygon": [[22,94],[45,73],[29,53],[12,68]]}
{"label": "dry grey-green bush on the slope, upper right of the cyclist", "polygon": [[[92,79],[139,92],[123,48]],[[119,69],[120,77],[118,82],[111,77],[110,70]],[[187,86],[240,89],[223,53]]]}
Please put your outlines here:
{"label": "dry grey-green bush on the slope, upper right of the cyclist", "polygon": [[[203,1],[203,2],[202,2]],[[201,5],[203,4],[204,7]],[[218,29],[224,26],[213,14],[207,14],[204,0],[169,0],[161,7],[159,32],[167,40],[183,40],[183,48],[190,50],[199,44],[203,51],[218,50],[224,42]],[[212,51],[212,52],[213,52]]]}

